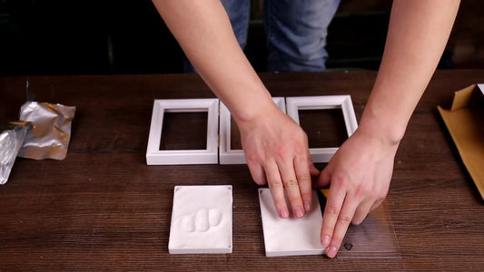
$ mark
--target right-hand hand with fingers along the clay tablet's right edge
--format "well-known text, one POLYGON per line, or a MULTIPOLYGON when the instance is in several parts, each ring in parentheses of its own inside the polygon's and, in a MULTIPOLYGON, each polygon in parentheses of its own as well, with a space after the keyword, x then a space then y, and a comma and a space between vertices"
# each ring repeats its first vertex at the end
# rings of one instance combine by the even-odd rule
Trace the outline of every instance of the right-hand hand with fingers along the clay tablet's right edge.
POLYGON ((357 130, 321 171, 316 187, 331 184, 324 209, 321 243, 335 257, 350 223, 359 225, 385 199, 398 144, 357 130))

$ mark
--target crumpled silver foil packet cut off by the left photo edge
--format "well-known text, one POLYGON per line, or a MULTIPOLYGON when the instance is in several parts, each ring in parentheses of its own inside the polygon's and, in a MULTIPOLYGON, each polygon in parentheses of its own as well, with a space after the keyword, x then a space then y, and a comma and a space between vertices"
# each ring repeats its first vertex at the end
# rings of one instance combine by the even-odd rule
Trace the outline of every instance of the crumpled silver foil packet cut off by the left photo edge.
POLYGON ((5 184, 10 176, 29 125, 28 121, 0 122, 0 184, 5 184))

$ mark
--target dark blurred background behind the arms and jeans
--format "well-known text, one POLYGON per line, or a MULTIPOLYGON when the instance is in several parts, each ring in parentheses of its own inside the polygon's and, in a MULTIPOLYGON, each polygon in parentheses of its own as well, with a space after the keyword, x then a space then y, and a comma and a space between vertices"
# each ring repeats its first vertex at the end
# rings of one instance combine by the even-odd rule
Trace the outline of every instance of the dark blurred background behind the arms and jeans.
MULTIPOLYGON (((252 0, 245 49, 265 69, 262 0, 252 0)), ((341 0, 328 69, 376 70, 391 1, 341 0)), ((484 1, 462 0, 441 69, 484 68, 484 1)), ((183 52, 150 0, 0 0, 0 76, 182 73, 183 52)))

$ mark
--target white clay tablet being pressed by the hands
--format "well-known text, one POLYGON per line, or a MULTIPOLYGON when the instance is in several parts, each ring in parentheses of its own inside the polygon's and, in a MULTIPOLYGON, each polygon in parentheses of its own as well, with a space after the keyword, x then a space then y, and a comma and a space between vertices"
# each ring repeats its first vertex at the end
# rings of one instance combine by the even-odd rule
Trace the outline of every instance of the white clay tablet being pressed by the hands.
MULTIPOLYGON (((279 218, 272 201, 271 190, 259 189, 265 256, 321 255, 322 215, 316 191, 312 194, 312 209, 303 218, 279 218)), ((287 199, 286 199, 287 201, 287 199)), ((288 207, 289 204, 288 204, 288 207)), ((290 209, 291 210, 291 209, 290 209)))

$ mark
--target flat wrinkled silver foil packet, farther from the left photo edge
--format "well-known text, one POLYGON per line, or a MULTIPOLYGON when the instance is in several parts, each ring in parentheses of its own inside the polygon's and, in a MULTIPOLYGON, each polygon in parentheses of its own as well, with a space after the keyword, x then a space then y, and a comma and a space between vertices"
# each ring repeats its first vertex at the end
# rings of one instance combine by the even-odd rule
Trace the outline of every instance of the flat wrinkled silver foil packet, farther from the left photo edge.
POLYGON ((64 160, 71 139, 75 107, 61 104, 25 102, 20 120, 32 122, 18 157, 64 160))

